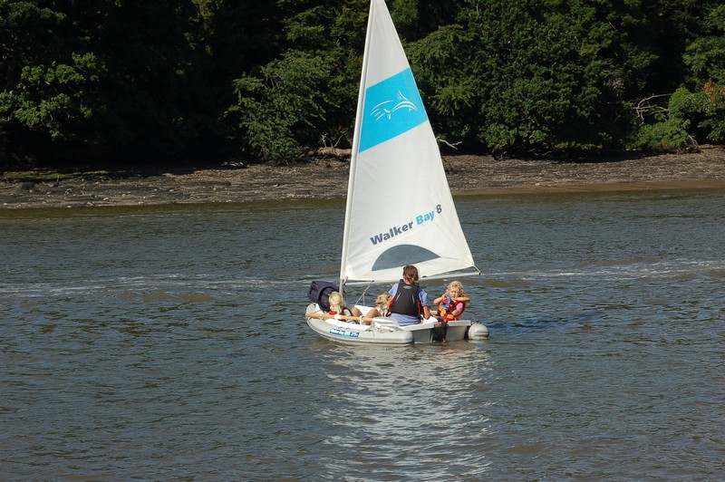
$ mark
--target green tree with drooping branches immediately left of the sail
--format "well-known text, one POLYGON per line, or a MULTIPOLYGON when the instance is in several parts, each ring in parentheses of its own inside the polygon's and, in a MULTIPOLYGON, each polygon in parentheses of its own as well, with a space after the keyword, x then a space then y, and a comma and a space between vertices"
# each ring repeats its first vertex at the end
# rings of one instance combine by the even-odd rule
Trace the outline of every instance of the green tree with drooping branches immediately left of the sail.
POLYGON ((360 78, 367 1, 280 1, 288 48, 235 81, 226 118, 255 159, 303 157, 349 143, 360 78))

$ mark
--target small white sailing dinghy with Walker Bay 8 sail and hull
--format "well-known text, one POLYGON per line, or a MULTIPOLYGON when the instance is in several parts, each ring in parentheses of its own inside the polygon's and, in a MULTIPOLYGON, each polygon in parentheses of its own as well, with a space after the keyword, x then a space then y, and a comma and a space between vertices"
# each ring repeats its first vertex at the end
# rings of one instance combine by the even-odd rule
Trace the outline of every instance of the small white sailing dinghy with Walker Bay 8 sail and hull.
MULTIPOLYGON (((387 291, 400 280, 405 265, 415 265, 423 281, 480 274, 460 227, 438 143, 391 15, 384 0, 372 0, 353 132, 339 289, 335 291, 372 284, 382 284, 380 291, 387 291)), ((334 287, 327 286, 328 294, 334 287)), ((322 298, 310 297, 313 303, 305 312, 307 324, 321 337, 336 342, 431 342, 440 327, 434 317, 407 326, 382 317, 362 324, 353 317, 330 315, 322 298)), ((357 307, 362 313, 370 309, 357 307)), ((488 330, 480 323, 448 323, 447 341, 483 336, 488 336, 488 330)))

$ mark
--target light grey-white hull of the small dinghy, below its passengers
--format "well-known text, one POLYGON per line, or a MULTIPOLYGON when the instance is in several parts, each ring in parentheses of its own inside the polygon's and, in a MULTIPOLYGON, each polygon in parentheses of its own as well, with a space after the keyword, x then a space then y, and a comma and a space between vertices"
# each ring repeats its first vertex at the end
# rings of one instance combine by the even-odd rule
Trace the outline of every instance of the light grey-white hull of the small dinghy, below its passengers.
MULTIPOLYGON (((362 313, 366 308, 359 306, 362 313)), ((305 313, 324 313, 317 304, 307 306, 305 313)), ((345 344, 408 345, 431 343, 438 323, 425 322, 400 326, 392 318, 374 318, 372 325, 348 323, 341 320, 306 317, 307 325, 325 340, 345 344)), ((446 342, 488 338, 488 329, 470 320, 448 323, 446 342)))

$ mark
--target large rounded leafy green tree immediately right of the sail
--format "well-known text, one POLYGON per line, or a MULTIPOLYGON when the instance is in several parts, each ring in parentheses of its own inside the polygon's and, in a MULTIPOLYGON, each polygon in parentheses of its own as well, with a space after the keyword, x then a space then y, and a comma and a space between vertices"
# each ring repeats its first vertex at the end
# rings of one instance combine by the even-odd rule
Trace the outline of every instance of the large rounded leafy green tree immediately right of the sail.
POLYGON ((495 150, 608 141, 604 68, 585 41, 593 16, 567 2, 469 2, 411 49, 440 131, 495 150))

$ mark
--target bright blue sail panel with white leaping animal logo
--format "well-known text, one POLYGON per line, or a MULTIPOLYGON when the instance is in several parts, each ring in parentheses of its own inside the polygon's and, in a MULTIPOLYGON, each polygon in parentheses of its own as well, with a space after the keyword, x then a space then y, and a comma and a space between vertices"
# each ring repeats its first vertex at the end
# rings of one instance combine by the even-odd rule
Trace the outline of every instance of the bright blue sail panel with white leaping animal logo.
POLYGON ((410 68, 368 87, 362 112, 359 152, 428 120, 410 68))

